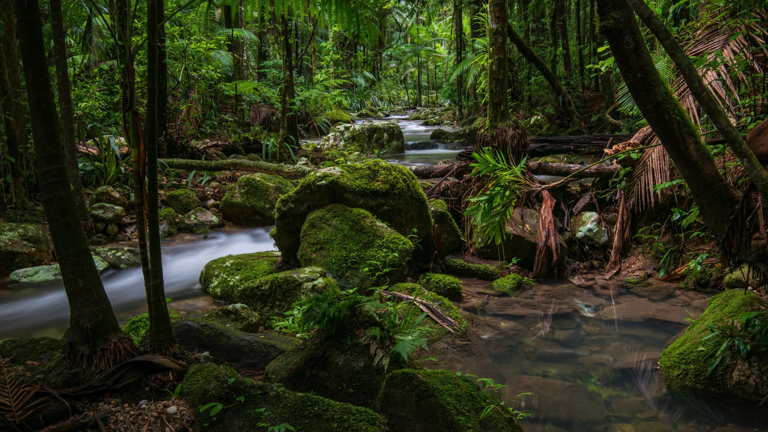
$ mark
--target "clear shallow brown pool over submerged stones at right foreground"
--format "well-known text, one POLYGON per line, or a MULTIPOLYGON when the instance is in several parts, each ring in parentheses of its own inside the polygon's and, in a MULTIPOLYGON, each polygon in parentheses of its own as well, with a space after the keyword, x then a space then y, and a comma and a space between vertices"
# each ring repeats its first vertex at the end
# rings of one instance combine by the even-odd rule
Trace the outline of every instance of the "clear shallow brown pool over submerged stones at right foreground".
MULTIPOLYGON (((660 283, 664 284, 664 283, 660 283)), ((427 367, 506 384, 508 406, 531 414, 526 432, 765 431, 752 406, 668 390, 657 358, 706 307, 704 295, 596 280, 592 287, 552 283, 515 297, 493 297, 465 279, 461 307, 474 316, 461 337, 430 347, 427 367), (646 297, 664 298, 664 301, 646 297), (532 395, 521 395, 533 393, 532 395)))

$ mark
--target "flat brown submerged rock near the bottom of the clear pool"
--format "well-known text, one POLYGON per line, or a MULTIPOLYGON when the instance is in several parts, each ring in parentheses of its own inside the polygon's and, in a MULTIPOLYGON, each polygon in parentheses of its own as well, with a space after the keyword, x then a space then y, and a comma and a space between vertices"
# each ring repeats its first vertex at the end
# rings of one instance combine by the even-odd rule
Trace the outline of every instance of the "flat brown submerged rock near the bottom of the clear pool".
POLYGON ((518 375, 507 381, 508 403, 515 395, 522 411, 538 420, 572 423, 598 423, 607 415, 605 404, 598 394, 587 387, 548 378, 518 375))

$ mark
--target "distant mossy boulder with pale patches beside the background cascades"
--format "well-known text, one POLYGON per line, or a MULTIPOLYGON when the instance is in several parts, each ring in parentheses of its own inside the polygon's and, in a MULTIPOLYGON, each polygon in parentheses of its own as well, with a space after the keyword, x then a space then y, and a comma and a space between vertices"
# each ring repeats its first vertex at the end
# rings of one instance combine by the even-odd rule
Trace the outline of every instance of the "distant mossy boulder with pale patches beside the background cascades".
POLYGON ((406 151, 406 138, 399 125, 389 121, 374 121, 359 125, 339 125, 320 140, 323 151, 333 149, 363 155, 396 154, 406 151))

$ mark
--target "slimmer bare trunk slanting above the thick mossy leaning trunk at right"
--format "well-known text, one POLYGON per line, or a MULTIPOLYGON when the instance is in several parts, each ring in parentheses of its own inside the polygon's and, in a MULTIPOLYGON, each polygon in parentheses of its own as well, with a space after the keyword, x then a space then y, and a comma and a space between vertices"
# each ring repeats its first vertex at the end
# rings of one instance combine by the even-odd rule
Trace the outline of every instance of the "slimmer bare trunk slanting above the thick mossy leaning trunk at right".
POLYGON ((760 161, 757 160, 755 154, 747 147, 746 142, 741 138, 739 131, 736 130, 733 123, 730 122, 730 119, 725 114, 725 111, 723 111, 723 108, 720 107, 712 92, 704 85, 694 62, 685 54, 683 48, 677 43, 677 40, 667 29, 667 26, 664 25, 664 22, 661 22, 656 12, 652 11, 644 1, 628 0, 628 2, 634 8, 634 11, 637 12, 637 16, 650 29, 650 32, 661 42, 667 54, 674 60, 675 65, 680 69, 680 73, 688 85, 691 95, 694 95, 701 108, 707 113, 707 117, 717 126, 717 131, 720 132, 720 135, 723 135, 733 154, 739 158, 746 173, 750 174, 750 178, 752 178, 752 182, 757 190, 760 191, 763 198, 768 198, 768 173, 766 173, 760 161))

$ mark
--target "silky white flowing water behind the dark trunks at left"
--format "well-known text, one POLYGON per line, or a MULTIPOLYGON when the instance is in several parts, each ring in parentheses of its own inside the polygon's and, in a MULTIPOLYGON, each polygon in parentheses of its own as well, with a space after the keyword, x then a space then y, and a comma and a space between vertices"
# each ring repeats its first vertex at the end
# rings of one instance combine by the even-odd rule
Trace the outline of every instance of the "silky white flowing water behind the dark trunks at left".
MULTIPOLYGON (((228 254, 274 250, 270 228, 215 231, 210 238, 180 234, 163 242, 165 294, 171 308, 199 315, 214 308, 197 279, 204 265, 228 254)), ((140 268, 108 270, 104 288, 119 319, 146 311, 140 268)), ((61 282, 10 284, 0 282, 0 340, 6 337, 59 337, 69 322, 69 306, 61 282)))

